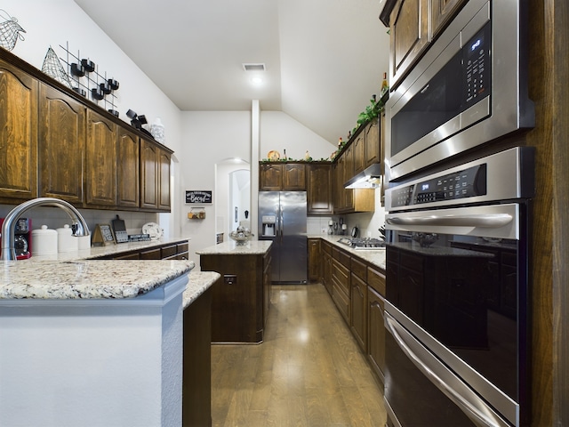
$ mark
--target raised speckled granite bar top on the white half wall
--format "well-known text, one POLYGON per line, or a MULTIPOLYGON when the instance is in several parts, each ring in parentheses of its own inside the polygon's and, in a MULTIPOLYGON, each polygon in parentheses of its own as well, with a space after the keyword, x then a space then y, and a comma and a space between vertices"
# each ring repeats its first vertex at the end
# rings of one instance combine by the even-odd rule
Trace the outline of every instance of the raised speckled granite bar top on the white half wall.
POLYGON ((0 263, 0 300, 132 298, 194 268, 177 260, 30 260, 0 263))

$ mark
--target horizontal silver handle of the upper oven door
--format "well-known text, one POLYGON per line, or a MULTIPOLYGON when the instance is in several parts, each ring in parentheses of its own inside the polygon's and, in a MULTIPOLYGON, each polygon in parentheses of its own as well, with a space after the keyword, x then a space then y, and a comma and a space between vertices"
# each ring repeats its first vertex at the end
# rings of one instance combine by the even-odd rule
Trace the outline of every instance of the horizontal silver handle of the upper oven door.
POLYGON ((448 227, 490 227, 500 228, 512 222, 510 214, 480 215, 429 215, 421 217, 392 216, 385 221, 392 225, 432 225, 448 227))

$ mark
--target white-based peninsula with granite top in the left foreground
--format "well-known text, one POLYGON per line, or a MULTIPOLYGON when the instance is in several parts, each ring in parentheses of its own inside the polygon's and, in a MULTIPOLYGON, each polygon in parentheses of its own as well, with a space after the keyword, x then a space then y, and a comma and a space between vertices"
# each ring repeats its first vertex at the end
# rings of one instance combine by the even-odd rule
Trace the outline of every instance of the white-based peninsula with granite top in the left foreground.
POLYGON ((182 325, 219 275, 38 258, 0 265, 0 425, 181 425, 182 325))

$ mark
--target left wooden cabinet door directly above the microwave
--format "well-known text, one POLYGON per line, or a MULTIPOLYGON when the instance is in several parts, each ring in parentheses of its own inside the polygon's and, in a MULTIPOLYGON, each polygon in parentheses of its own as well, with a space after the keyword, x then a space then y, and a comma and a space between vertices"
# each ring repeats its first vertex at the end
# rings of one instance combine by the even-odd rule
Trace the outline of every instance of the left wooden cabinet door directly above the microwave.
POLYGON ((389 22, 389 83, 395 88, 429 44, 429 0, 398 0, 389 22))

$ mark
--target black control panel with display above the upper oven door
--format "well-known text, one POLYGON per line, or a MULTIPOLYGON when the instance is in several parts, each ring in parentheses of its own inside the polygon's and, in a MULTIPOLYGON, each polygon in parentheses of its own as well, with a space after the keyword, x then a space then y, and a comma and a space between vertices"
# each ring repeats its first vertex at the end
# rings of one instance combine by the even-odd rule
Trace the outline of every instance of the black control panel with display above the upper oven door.
POLYGON ((455 173, 394 189, 392 206, 460 200, 486 194, 486 165, 476 165, 455 173))

